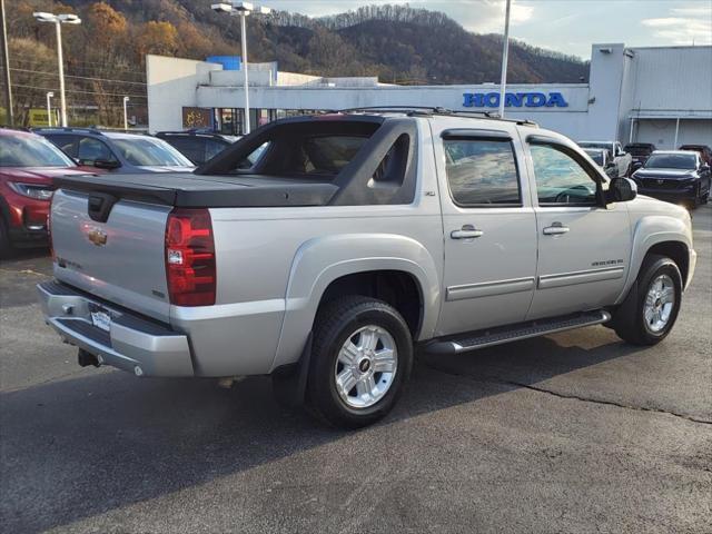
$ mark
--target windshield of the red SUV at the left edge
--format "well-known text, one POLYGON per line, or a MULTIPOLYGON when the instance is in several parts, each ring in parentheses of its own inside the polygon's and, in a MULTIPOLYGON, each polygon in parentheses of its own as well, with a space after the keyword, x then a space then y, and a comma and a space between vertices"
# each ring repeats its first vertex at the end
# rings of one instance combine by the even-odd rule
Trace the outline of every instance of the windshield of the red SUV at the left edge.
POLYGON ((75 162, 39 136, 0 136, 0 167, 75 167, 75 162))

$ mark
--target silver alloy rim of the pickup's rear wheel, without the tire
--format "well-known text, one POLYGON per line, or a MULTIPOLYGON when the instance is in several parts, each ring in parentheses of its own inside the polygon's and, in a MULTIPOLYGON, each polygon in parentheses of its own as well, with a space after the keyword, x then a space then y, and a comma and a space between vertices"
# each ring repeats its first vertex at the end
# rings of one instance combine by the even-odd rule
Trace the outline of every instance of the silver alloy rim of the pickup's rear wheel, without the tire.
POLYGON ((368 408, 388 393, 397 367, 393 336, 380 326, 364 326, 348 336, 336 358, 338 396, 352 408, 368 408))

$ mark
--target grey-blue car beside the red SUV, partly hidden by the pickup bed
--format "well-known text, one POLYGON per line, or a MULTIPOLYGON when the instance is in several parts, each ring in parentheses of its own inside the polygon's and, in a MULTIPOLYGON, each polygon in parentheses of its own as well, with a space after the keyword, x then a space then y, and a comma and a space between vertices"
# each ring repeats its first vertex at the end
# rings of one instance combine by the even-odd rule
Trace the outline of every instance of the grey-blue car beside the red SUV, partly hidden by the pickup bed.
POLYGON ((93 128, 34 130, 81 165, 111 174, 190 172, 195 165, 169 144, 142 134, 93 128))

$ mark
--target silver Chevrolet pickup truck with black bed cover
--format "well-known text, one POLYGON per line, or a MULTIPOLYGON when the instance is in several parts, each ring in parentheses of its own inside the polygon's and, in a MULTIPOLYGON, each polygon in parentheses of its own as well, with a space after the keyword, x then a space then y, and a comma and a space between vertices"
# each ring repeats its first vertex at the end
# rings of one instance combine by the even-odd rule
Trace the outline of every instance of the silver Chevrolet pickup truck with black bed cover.
POLYGON ((343 427, 388 413, 415 352, 599 324, 659 343, 696 258, 686 210, 567 138, 444 110, 275 121, 192 175, 61 178, 50 219, 39 294, 80 365, 269 374, 343 427))

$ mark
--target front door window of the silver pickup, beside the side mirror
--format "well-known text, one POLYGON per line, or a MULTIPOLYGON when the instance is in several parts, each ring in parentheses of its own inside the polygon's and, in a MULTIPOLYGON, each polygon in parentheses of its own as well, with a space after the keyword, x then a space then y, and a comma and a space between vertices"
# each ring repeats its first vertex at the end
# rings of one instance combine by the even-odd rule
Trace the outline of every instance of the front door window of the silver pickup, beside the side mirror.
POLYGON ((596 182, 571 156, 553 145, 530 145, 541 206, 594 206, 596 182))

